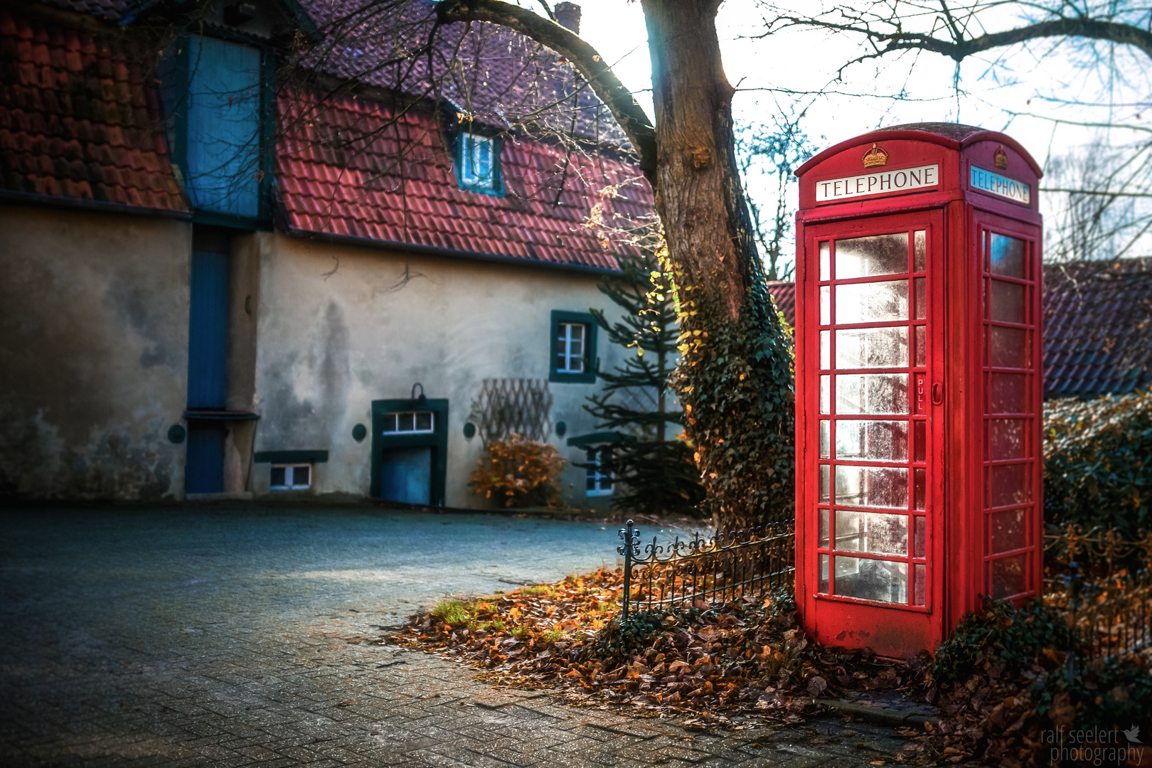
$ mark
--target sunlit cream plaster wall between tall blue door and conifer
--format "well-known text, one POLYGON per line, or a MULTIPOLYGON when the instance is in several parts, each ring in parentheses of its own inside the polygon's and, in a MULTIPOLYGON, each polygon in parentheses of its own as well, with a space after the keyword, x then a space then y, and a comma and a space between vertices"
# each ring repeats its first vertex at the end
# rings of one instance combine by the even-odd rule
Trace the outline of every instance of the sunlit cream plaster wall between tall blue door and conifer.
MULTIPOLYGON (((327 449, 318 493, 369 493, 372 440, 356 442, 353 427, 371 429, 371 402, 407 398, 419 381, 429 397, 449 401, 446 503, 486 505, 467 486, 480 439, 463 435, 483 380, 547 379, 552 310, 611 305, 594 275, 259 237, 256 450, 327 449)), ((601 366, 617 355, 600 332, 601 366)), ((582 406, 599 386, 550 385, 551 420, 568 425, 552 441, 571 461, 584 455, 564 440, 594 429, 582 406)), ((608 501, 585 502, 582 469, 567 484, 573 503, 608 501)), ((253 487, 267 493, 267 464, 256 466, 253 487)))

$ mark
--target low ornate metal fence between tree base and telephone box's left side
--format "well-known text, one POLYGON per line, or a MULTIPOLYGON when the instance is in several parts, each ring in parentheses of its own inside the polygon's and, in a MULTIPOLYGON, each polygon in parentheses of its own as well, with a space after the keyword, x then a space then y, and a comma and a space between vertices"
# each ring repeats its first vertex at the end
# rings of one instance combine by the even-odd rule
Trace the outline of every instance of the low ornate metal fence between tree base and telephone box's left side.
POLYGON ((661 545, 658 537, 641 543, 628 520, 620 529, 624 543, 622 618, 630 610, 728 602, 795 583, 796 527, 791 522, 712 537, 694 533, 661 545), (642 549, 643 547, 643 549, 642 549))

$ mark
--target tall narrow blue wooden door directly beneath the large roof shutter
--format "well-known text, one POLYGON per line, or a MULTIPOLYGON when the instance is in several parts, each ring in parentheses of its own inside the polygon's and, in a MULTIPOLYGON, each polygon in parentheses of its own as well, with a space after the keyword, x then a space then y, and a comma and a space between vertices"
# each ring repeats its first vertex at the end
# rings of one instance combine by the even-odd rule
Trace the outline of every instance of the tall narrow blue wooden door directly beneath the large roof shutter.
POLYGON ((188 408, 222 409, 227 398, 228 257, 192 252, 188 319, 188 408))

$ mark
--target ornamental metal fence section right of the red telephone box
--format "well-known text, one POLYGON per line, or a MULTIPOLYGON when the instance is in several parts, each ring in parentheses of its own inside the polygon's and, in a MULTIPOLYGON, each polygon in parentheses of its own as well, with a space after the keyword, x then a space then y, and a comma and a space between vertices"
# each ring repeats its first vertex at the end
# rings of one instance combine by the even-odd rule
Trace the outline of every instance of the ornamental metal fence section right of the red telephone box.
POLYGON ((1069 526, 1044 537, 1044 601, 1063 611, 1084 659, 1152 648, 1152 534, 1069 526))

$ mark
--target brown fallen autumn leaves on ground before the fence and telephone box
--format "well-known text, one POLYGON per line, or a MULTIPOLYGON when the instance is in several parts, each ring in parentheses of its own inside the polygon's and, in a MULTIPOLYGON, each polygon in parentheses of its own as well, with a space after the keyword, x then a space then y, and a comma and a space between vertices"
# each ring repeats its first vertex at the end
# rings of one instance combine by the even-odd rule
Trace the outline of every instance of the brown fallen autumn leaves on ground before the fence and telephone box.
MULTIPOLYGON (((569 705, 631 717, 677 717, 696 731, 797 725, 826 712, 827 699, 895 700, 923 686, 924 657, 882 659, 804 638, 787 592, 630 611, 621 622, 622 593, 622 569, 601 568, 555 584, 446 600, 410 616, 389 639, 468 664, 493 686, 548 690, 569 705)), ((942 753, 952 745, 931 727, 895 735, 909 744, 887 761, 960 762, 971 754, 942 753)))

